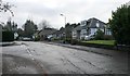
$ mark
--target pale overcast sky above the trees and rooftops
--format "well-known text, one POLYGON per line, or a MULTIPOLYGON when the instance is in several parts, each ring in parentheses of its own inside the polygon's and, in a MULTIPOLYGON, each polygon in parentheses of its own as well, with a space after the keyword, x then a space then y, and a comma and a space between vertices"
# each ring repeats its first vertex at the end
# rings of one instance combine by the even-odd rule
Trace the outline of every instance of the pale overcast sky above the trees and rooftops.
MULTIPOLYGON (((64 26, 64 17, 67 23, 79 23, 83 20, 96 17, 105 23, 121 4, 129 0, 3 0, 14 4, 13 12, 15 14, 12 20, 18 24, 18 27, 25 23, 27 18, 31 18, 36 24, 42 20, 50 23, 52 27, 60 28, 64 26)), ((0 15, 0 21, 6 22, 10 13, 0 15)))

